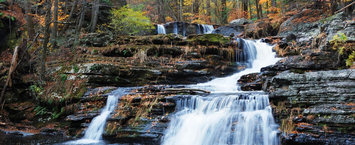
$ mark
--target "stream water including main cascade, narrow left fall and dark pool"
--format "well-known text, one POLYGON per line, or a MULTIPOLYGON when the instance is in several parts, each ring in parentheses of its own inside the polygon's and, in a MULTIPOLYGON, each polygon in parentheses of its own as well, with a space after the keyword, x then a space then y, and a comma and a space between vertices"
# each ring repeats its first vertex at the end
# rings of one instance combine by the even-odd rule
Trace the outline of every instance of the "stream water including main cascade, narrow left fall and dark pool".
MULTIPOLYGON (((277 145, 278 125, 275 124, 268 95, 263 91, 243 92, 237 86, 242 75, 260 72, 262 67, 275 64, 272 46, 253 40, 244 40, 240 54, 248 63, 247 68, 234 75, 216 78, 206 83, 188 85, 211 91, 177 100, 176 113, 165 130, 164 145, 277 145)), ((81 139, 58 135, 1 134, 0 144, 135 144, 119 140, 103 140, 106 120, 130 87, 119 88, 108 94, 106 106, 94 117, 81 139), (50 140, 48 139, 50 138, 50 140)), ((139 145, 139 144, 136 144, 139 145)))

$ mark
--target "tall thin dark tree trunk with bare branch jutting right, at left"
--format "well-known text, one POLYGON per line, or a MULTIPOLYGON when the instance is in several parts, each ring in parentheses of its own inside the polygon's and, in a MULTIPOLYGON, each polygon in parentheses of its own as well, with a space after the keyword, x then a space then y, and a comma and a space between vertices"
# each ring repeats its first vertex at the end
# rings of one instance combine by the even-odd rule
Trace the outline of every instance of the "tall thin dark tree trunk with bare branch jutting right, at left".
POLYGON ((42 57, 41 57, 41 63, 40 63, 40 71, 39 71, 39 83, 43 84, 45 83, 45 61, 47 58, 47 45, 48 45, 48 39, 49 39, 49 26, 50 26, 50 19, 51 19, 51 14, 50 14, 50 9, 51 9, 51 1, 47 0, 47 13, 45 14, 45 25, 44 25, 44 40, 43 40, 43 46, 42 46, 42 57))

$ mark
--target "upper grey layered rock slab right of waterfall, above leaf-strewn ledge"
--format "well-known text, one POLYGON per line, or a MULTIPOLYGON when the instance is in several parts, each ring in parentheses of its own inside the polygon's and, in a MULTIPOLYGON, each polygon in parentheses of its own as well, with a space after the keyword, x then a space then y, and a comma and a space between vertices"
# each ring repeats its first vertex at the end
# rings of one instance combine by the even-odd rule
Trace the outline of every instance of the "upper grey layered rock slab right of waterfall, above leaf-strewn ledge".
POLYGON ((355 102, 355 70, 280 73, 269 86, 270 99, 311 106, 355 102))

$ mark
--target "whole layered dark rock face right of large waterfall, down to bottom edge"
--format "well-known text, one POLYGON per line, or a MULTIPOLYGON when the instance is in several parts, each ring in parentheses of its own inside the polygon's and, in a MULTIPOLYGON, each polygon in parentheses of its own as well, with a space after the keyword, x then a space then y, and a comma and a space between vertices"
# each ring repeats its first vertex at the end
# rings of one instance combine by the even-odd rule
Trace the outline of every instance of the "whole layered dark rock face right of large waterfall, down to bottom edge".
POLYGON ((284 71, 268 81, 272 102, 301 112, 293 118, 298 133, 282 134, 283 144, 355 143, 355 70, 284 71))

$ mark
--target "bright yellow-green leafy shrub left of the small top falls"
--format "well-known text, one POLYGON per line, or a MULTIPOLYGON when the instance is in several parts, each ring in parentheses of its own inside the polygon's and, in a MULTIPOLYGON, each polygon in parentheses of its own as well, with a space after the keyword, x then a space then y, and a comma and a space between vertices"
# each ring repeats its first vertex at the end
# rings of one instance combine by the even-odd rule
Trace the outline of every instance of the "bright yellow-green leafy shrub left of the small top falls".
POLYGON ((150 19, 141 11, 134 11, 128 6, 111 10, 112 22, 110 27, 120 34, 144 35, 154 29, 150 19))

